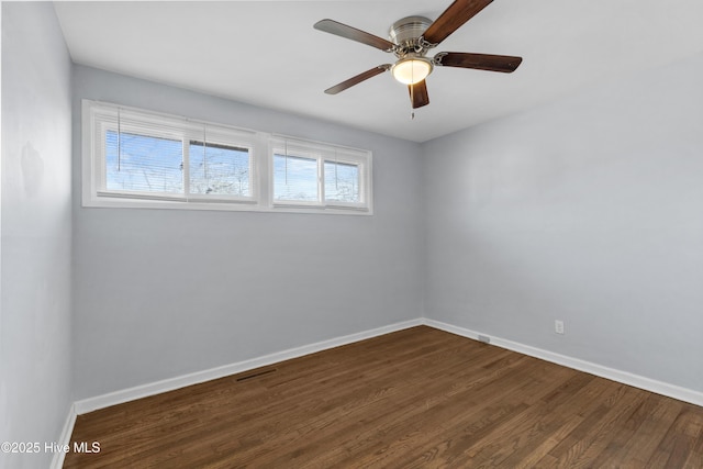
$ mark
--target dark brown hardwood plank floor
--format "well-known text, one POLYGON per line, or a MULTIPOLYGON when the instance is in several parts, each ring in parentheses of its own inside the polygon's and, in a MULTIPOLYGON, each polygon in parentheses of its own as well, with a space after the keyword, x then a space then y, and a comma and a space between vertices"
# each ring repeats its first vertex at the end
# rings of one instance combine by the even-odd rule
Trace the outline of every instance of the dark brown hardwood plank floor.
MULTIPOLYGON (((80 415, 66 468, 703 468, 703 407, 420 326, 80 415)), ((72 445, 72 443, 71 443, 72 445)))

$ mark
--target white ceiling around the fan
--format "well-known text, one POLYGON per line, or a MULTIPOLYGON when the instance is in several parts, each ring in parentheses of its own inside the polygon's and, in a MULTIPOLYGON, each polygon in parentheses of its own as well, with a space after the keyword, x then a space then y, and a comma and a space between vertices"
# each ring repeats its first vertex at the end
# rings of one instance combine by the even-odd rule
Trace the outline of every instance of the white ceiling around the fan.
POLYGON ((381 37, 450 0, 56 2, 74 62, 259 107, 424 142, 598 81, 703 52, 701 0, 495 0, 436 49, 517 55, 513 74, 436 68, 411 120, 390 74, 324 89, 393 62, 316 31, 324 18, 381 37))

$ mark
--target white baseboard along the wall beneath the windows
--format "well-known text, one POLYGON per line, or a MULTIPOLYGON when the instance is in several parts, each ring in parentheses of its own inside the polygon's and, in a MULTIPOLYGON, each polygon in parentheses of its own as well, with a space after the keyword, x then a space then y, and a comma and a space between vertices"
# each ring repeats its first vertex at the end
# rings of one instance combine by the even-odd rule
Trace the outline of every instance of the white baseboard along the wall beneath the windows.
MULTIPOLYGON (((78 415, 97 411, 99 409, 109 407, 111 405, 122 404, 124 402, 134 401, 135 399, 146 398, 161 392, 174 391, 187 386, 199 384, 217 378, 224 378, 230 375, 241 373, 246 370, 265 367, 277 364, 279 361, 289 360, 291 358, 302 357, 304 355, 314 354, 316 351, 326 350, 328 348, 352 344, 379 335, 389 334, 404 328, 423 325, 423 319, 404 321, 401 323, 390 324, 388 326, 378 327, 370 331, 364 331, 356 334, 349 334, 328 340, 317 342, 302 347, 290 348, 288 350, 278 351, 263 357, 253 358, 250 360, 238 361, 235 364, 224 365, 222 367, 211 368, 209 370, 197 371, 180 377, 169 378, 121 391, 110 392, 108 394, 88 398, 76 401, 75 413, 78 415)), ((70 436, 70 434, 69 434, 70 436)))

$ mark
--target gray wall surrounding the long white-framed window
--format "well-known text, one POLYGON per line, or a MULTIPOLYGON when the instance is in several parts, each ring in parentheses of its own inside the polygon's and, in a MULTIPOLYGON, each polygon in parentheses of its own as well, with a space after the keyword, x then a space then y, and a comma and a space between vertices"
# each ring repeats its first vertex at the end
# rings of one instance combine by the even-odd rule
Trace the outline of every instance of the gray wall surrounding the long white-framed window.
POLYGON ((77 399, 421 317, 419 145, 74 68, 77 399), (372 216, 80 206, 80 100, 373 152, 372 216))

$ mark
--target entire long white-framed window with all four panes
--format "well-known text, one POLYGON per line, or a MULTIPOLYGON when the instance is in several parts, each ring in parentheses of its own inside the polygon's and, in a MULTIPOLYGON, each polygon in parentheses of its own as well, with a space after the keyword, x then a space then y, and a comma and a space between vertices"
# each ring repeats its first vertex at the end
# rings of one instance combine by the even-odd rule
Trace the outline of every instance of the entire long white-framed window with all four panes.
POLYGON ((83 205, 371 213, 371 154, 83 100, 83 205))

